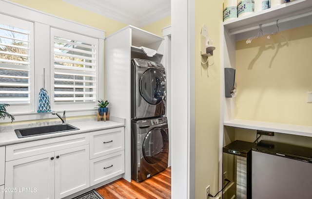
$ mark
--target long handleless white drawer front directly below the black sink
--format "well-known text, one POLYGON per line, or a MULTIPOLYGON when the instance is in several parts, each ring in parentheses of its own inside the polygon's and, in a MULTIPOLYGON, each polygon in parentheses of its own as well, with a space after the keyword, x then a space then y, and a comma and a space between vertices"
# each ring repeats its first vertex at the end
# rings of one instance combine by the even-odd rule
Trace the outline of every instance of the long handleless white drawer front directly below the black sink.
MULTIPOLYGON (((22 138, 21 138, 22 139, 22 138)), ((6 146, 6 161, 48 153, 65 148, 88 145, 88 133, 62 136, 33 142, 6 146)))

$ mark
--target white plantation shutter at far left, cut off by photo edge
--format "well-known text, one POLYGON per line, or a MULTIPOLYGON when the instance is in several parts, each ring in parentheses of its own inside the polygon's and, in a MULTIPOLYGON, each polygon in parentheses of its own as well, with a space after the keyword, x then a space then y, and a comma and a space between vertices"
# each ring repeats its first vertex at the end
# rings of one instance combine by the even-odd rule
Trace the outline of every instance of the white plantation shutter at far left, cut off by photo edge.
POLYGON ((32 22, 0 15, 0 103, 23 105, 19 112, 34 104, 33 27, 32 22))

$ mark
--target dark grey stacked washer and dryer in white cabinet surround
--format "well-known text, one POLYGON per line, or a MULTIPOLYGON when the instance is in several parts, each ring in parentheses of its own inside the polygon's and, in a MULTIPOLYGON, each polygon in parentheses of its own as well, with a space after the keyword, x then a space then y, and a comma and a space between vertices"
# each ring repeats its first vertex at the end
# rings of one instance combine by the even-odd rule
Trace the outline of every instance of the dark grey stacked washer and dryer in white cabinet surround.
POLYGON ((166 72, 161 63, 131 59, 132 179, 143 181, 168 167, 166 72))

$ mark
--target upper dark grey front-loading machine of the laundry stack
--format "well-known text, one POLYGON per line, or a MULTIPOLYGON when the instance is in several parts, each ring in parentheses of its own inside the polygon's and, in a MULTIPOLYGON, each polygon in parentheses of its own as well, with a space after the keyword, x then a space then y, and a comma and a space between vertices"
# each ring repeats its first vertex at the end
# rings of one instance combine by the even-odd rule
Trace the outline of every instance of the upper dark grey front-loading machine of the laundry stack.
POLYGON ((161 63, 131 59, 131 118, 165 115, 166 72, 161 63))

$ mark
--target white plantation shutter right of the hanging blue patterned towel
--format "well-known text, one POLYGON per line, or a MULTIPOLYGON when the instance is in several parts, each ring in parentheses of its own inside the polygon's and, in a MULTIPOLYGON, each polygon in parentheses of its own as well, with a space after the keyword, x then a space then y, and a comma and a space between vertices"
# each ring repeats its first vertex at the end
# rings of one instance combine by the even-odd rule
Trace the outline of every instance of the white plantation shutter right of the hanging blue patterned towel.
POLYGON ((54 28, 51 33, 54 102, 90 104, 93 108, 97 99, 98 39, 54 28))

